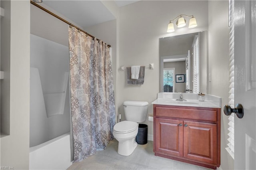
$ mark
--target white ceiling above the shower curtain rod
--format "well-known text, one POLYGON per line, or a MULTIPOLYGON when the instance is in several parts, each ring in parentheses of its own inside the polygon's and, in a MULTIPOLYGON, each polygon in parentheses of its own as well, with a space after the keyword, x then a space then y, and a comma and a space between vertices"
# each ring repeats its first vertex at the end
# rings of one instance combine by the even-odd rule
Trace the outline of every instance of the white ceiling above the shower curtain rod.
MULTIPOLYGON (((114 2, 118 7, 122 7, 138 0, 115 0, 114 2)), ((115 19, 100 0, 43 0, 43 4, 83 28, 115 19)))

